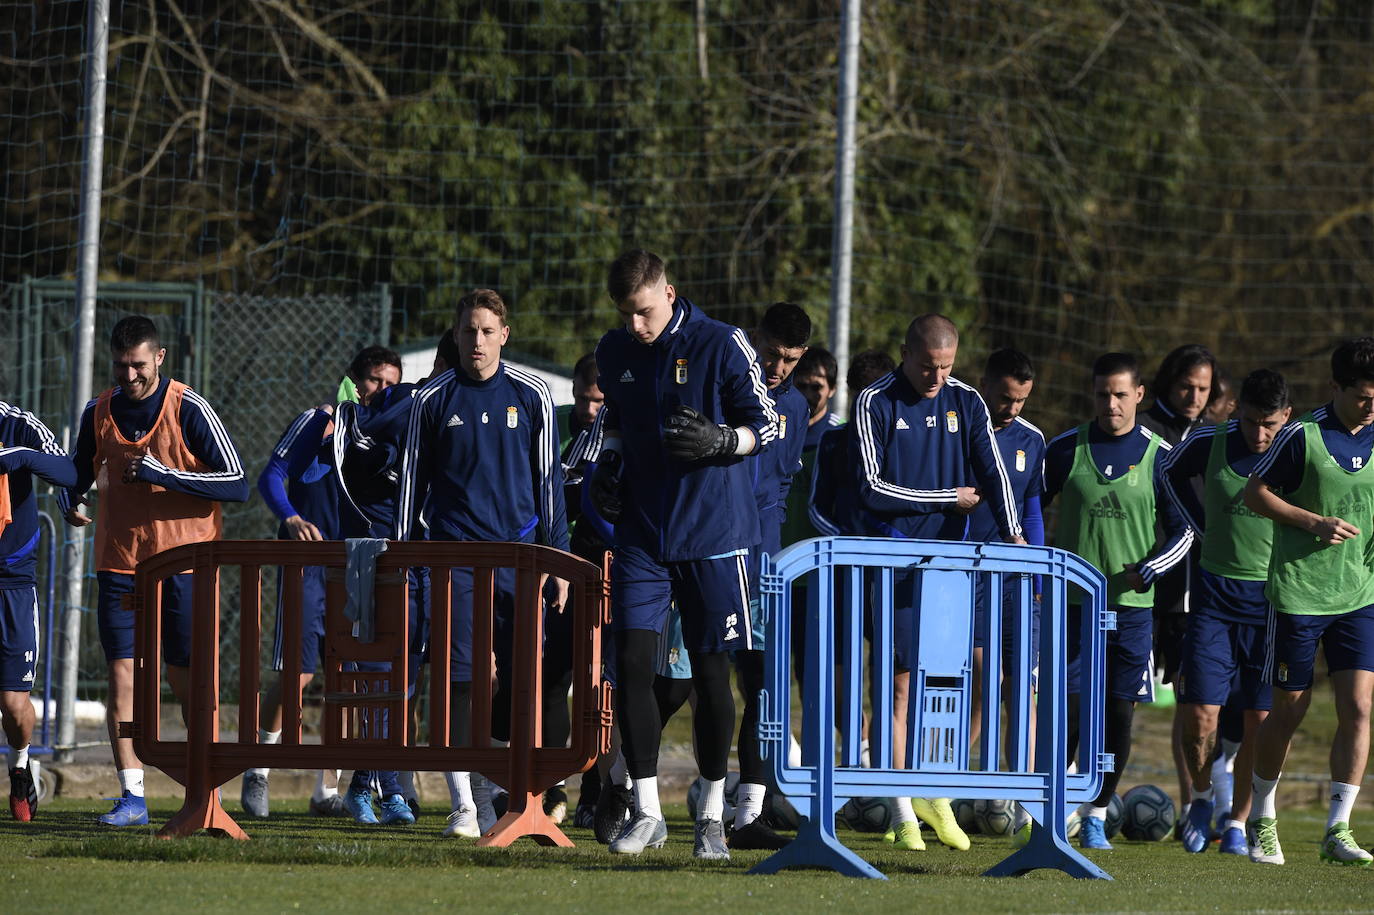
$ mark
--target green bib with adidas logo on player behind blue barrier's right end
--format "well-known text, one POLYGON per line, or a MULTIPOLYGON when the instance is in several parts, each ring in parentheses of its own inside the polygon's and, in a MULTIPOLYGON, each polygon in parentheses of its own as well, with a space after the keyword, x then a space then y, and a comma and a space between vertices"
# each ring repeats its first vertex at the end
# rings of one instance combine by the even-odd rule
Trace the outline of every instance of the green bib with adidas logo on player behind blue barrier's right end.
MULTIPOLYGON (((1079 426, 1073 466, 1059 496, 1059 529, 1055 541, 1107 577, 1107 606, 1154 606, 1154 585, 1132 591, 1118 577, 1128 562, 1142 562, 1154 547, 1154 456, 1160 437, 1150 433, 1150 445, 1140 463, 1116 479, 1107 479, 1088 451, 1088 423, 1079 426)), ((1128 434, 1136 434, 1132 429, 1128 434)), ((1080 603, 1073 600, 1070 602, 1080 603)))

